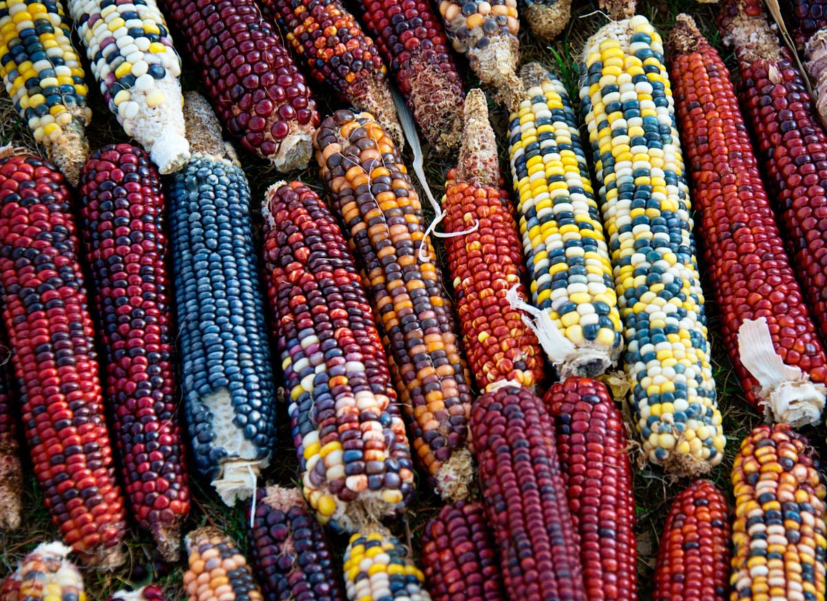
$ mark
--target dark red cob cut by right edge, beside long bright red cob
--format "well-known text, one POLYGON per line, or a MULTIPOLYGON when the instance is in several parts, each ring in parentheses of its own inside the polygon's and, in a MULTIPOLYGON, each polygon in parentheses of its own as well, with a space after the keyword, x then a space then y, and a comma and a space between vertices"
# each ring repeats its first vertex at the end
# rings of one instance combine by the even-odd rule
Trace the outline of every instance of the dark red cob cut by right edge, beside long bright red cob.
POLYGON ((827 336, 827 134, 761 5, 732 0, 719 26, 739 60, 743 116, 758 144, 786 250, 811 315, 827 336))

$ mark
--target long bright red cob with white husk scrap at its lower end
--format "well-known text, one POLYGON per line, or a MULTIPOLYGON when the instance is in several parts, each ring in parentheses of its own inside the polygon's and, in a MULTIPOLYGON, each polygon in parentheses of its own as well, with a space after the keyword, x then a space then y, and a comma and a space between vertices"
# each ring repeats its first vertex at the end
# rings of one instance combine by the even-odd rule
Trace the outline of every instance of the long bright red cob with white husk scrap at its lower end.
POLYGON ((671 45, 676 112, 729 359, 750 403, 796 427, 815 422, 825 405, 827 357, 784 252, 729 71, 691 17, 678 15, 671 45), (742 353, 754 365, 757 347, 740 345, 739 330, 758 319, 772 342, 767 351, 799 368, 797 377, 792 370, 765 385, 744 365, 742 353))

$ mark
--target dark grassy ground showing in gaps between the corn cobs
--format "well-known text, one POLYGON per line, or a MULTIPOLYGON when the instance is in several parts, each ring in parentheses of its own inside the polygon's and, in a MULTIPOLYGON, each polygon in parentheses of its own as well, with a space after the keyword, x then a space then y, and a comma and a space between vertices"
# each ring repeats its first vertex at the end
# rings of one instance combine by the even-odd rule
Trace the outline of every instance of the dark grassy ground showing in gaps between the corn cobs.
MULTIPOLYGON (((538 44, 528 35, 527 28, 521 33, 521 45, 523 61, 538 60, 548 68, 553 69, 560 76, 562 81, 569 88, 572 98, 577 98, 577 79, 579 60, 582 47, 586 39, 594 33, 598 27, 605 24, 606 19, 600 12, 595 12, 596 2, 575 2, 579 5, 574 8, 571 21, 566 31, 551 46, 538 44)), ((710 42, 722 50, 724 59, 728 61, 730 69, 733 69, 732 55, 729 50, 720 48, 719 35, 715 27, 715 12, 717 8, 713 5, 696 4, 686 0, 641 0, 638 10, 662 31, 664 39, 669 28, 675 21, 676 13, 681 7, 688 7, 693 17, 698 21, 701 30, 708 37, 710 42)), ((470 73, 467 64, 460 60, 461 72, 470 73)), ((194 69, 187 65, 184 69, 184 88, 198 89, 200 81, 194 75, 194 69)), ((474 79, 466 80, 466 88, 478 85, 474 79)), ((321 88, 316 88, 316 98, 319 103, 320 112, 327 114, 331 108, 340 107, 329 93, 321 88)), ((122 132, 117 121, 108 112, 97 90, 91 95, 94 117, 93 125, 88 129, 88 135, 92 147, 100 145, 127 141, 127 136, 122 132)), ((574 103, 577 106, 577 103, 574 103)), ((500 107, 490 106, 491 121, 495 126, 500 141, 500 157, 504 167, 507 166, 507 150, 505 148, 507 136, 508 116, 500 107)), ((12 112, 11 103, 7 98, 0 100, 0 141, 12 141, 16 145, 25 145, 32 150, 36 149, 31 135, 22 125, 22 122, 12 112)), ((440 157, 426 153, 426 172, 428 182, 435 195, 442 193, 442 186, 447 170, 452 167, 451 163, 440 157)), ((263 193, 270 184, 278 179, 302 179, 306 184, 322 191, 323 187, 318 178, 315 165, 308 166, 300 172, 291 174, 279 174, 264 161, 257 160, 251 155, 240 152, 246 174, 250 179, 253 198, 263 198, 263 193)), ((406 160, 410 156, 406 153, 406 160)), ((504 170, 505 177, 509 177, 508 169, 504 170)), ((418 183, 416 183, 418 185, 418 183)), ((433 217, 428 203, 425 202, 424 209, 428 218, 433 217)), ((257 210, 257 207, 256 207, 257 210)), ((437 241, 437 252, 444 261, 442 245, 437 241)), ((701 265, 702 273, 705 271, 701 265)), ((711 298, 708 282, 705 282, 707 296, 707 311, 709 316, 710 338, 713 348, 713 361, 715 364, 715 378, 718 384, 719 405, 724 413, 724 432, 728 436, 728 446, 725 459, 722 465, 716 468, 710 479, 713 479, 719 488, 729 494, 729 469, 732 465, 734 454, 738 449, 743 436, 751 427, 760 422, 758 414, 750 408, 743 400, 739 388, 738 379, 735 377, 732 366, 724 351, 723 342, 719 336, 719 314, 711 298)), ((290 444, 288 417, 284 405, 279 409, 280 445, 275 453, 273 465, 265 473, 265 480, 276 484, 291 484, 296 482, 294 450, 290 444)), ((818 440, 823 440, 823 432, 819 432, 818 440)), ((636 459, 638 451, 634 441, 630 442, 633 458, 636 459)), ((38 491, 31 475, 31 466, 26 465, 26 489, 23 491, 26 517, 23 527, 12 533, 0 534, 0 576, 7 570, 11 570, 27 551, 36 546, 39 542, 57 537, 57 530, 51 524, 49 514, 42 504, 41 494, 38 491)), ((686 480, 673 481, 662 471, 653 468, 651 465, 638 466, 634 471, 634 493, 637 502, 638 517, 638 572, 640 580, 641 598, 648 599, 650 592, 650 580, 653 573, 656 555, 657 541, 660 531, 666 518, 670 500, 686 486, 686 480)), ((220 503, 218 497, 213 493, 208 482, 194 475, 192 480, 193 510, 186 524, 185 529, 189 531, 194 527, 203 524, 212 524, 221 528, 233 537, 242 548, 246 549, 245 541, 245 516, 242 508, 227 508, 220 503)), ((418 489, 418 496, 414 506, 409 509, 407 518, 394 526, 395 532, 404 540, 412 541, 414 554, 417 553, 417 541, 421 530, 428 518, 441 507, 440 500, 427 487, 418 489)), ((332 535, 332 545, 339 551, 344 549, 346 538, 332 535)), ((113 590, 125 584, 145 584, 149 580, 160 580, 169 594, 170 601, 184 599, 181 590, 181 577, 185 567, 185 560, 178 565, 164 568, 156 560, 154 545, 151 537, 145 531, 137 527, 131 527, 127 537, 129 548, 129 559, 127 565, 114 572, 102 572, 95 570, 84 570, 85 580, 88 587, 88 599, 106 599, 113 590), (160 568, 161 569, 159 571, 160 568)))

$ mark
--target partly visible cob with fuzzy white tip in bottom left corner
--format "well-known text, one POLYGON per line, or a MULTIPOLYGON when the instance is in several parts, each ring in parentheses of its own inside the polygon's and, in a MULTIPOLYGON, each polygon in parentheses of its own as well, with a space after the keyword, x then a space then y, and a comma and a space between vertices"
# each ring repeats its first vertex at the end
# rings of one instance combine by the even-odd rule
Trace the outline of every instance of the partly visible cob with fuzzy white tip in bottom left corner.
POLYGON ((68 546, 42 542, 8 575, 0 587, 2 601, 86 601, 84 579, 66 559, 68 546))

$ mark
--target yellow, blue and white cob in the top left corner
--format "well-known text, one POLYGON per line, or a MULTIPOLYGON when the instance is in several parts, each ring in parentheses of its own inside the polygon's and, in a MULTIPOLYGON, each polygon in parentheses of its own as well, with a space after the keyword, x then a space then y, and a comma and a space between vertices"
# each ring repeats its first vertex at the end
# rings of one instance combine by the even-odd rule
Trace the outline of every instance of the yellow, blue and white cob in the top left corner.
POLYGON ((84 68, 60 0, 0 0, 0 75, 15 111, 72 185, 89 154, 84 68))

